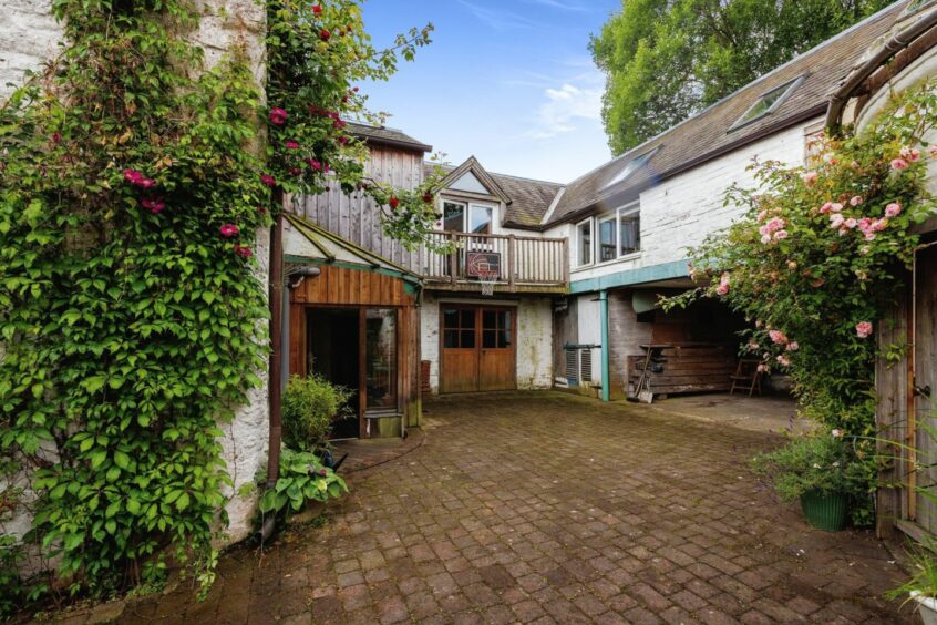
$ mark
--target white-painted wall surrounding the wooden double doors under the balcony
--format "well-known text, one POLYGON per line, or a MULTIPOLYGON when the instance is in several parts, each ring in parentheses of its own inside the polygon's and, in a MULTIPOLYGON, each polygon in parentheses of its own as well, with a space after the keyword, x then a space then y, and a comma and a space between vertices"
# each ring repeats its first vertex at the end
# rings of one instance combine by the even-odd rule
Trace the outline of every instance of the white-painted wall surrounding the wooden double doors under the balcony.
POLYGON ((519 300, 454 299, 426 293, 420 309, 421 360, 430 361, 430 388, 440 391, 440 303, 503 305, 517 307, 517 388, 548 389, 553 386, 553 301, 548 297, 519 300))

